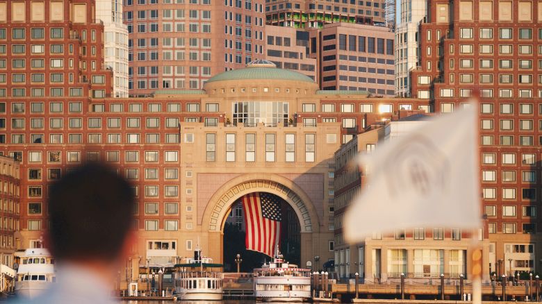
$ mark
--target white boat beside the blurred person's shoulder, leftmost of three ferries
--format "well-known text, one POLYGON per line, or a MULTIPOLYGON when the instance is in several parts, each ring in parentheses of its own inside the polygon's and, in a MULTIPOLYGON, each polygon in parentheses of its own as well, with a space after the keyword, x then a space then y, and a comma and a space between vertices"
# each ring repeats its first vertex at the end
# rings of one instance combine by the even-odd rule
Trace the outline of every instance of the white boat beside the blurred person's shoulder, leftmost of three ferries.
POLYGON ((30 248, 24 251, 17 269, 15 294, 24 298, 35 298, 56 282, 54 257, 45 248, 30 248))

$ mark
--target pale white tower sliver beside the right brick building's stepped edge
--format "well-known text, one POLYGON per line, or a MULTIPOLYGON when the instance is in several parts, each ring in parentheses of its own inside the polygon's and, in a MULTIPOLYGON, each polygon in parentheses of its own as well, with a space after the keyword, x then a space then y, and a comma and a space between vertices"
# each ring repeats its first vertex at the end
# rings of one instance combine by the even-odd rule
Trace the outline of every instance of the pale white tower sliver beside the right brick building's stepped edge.
POLYGON ((418 29, 427 17, 427 0, 401 0, 395 28, 395 94, 409 97, 410 71, 418 66, 418 29))

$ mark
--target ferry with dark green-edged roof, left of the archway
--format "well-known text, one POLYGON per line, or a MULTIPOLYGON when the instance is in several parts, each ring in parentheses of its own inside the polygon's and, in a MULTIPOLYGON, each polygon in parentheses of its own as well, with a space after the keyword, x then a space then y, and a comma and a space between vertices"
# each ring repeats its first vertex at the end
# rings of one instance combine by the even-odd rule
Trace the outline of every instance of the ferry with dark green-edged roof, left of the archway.
POLYGON ((182 264, 176 264, 174 272, 174 298, 179 301, 205 300, 220 301, 224 293, 224 273, 222 264, 213 264, 210 257, 202 257, 197 248, 194 258, 186 258, 182 264), (213 271, 217 269, 218 271, 213 271))

